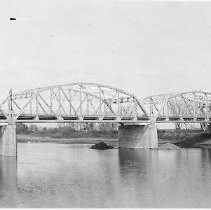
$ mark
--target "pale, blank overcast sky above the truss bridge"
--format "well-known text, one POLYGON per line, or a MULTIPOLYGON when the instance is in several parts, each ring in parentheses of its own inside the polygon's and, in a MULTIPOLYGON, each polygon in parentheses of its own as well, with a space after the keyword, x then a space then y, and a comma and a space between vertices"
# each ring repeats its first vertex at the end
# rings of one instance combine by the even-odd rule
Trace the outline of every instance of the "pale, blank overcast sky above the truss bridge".
POLYGON ((0 0, 0 99, 73 82, 211 91, 211 2, 0 0))

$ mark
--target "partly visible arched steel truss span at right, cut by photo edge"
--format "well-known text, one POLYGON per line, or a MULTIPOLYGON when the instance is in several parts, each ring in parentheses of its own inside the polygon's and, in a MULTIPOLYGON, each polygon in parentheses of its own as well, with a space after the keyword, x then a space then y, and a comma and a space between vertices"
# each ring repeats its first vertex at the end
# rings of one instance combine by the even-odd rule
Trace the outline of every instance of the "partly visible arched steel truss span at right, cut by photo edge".
POLYGON ((203 91, 149 96, 140 100, 156 122, 210 122, 211 93, 203 91))

